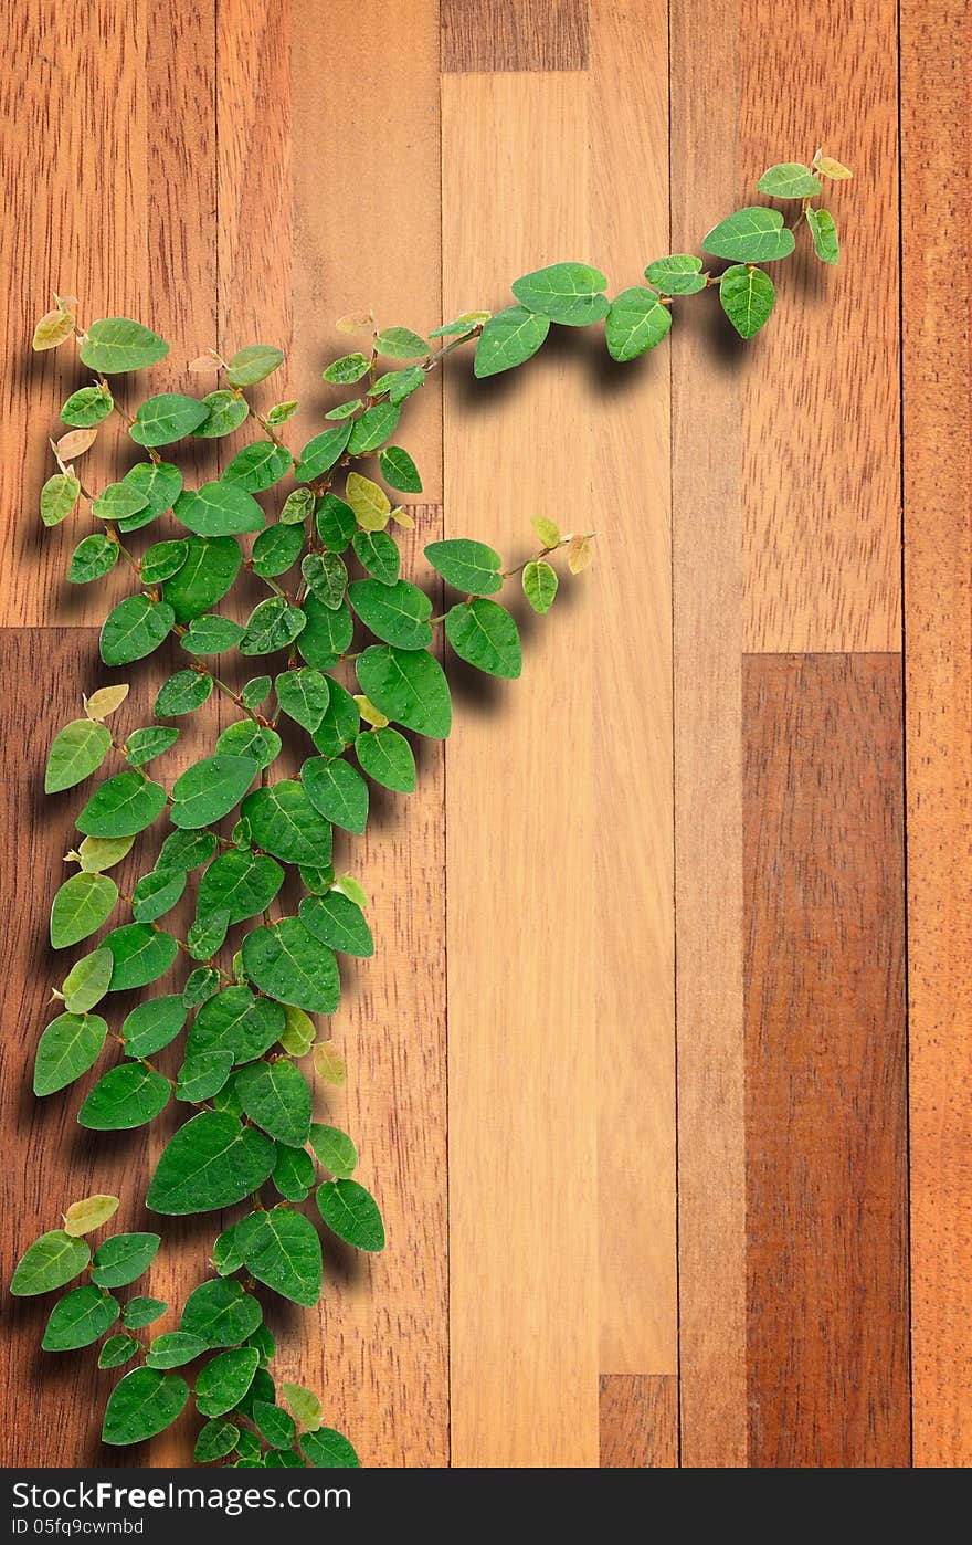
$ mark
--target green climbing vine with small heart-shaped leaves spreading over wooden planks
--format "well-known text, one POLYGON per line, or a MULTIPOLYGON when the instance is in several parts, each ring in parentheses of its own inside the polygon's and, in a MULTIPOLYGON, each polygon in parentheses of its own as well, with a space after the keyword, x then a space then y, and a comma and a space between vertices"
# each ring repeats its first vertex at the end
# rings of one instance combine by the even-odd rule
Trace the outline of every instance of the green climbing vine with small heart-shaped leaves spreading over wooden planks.
POLYGON ((161 337, 125 317, 82 326, 77 301, 63 297, 39 321, 34 348, 76 340, 88 377, 60 411, 66 433, 51 442, 57 471, 40 494, 42 521, 93 525, 71 553, 71 584, 97 582, 119 562, 131 570, 131 595, 100 630, 107 666, 128 667, 173 637, 185 661, 159 689, 151 714, 147 705, 131 714, 128 683, 100 688, 51 746, 51 794, 91 779, 110 759, 116 769, 77 814, 79 840, 66 854, 73 873, 53 901, 56 950, 99 939, 54 990, 60 1012, 37 1046, 34 1092, 68 1088, 108 1044, 117 1046, 121 1060, 80 1103, 79 1123, 138 1128, 175 1102, 187 1119, 148 1180, 148 1210, 241 1208, 215 1239, 212 1273, 182 1306, 178 1329, 153 1338, 144 1332, 168 1306, 144 1295, 122 1302, 117 1293, 148 1270, 159 1234, 110 1234, 94 1253, 88 1244, 117 1197, 74 1202, 62 1227, 23 1255, 11 1284, 17 1295, 83 1278, 54 1304, 45 1350, 100 1341, 99 1367, 134 1364, 108 1397, 105 1443, 138 1443, 175 1421, 190 1398, 187 1377, 175 1369, 193 1364, 192 1395, 204 1418, 199 1463, 359 1463, 351 1441, 323 1426, 317 1395, 287 1383, 278 1389, 258 1296, 269 1289, 317 1304, 317 1222, 325 1241, 335 1236, 365 1251, 385 1245, 379 1204, 354 1177, 355 1143, 314 1120, 304 1072, 311 1061, 325 1083, 343 1082, 340 1051, 315 1017, 337 1012, 338 956, 374 950, 368 896, 357 878, 335 871, 332 830, 365 831, 371 785, 414 789, 410 735, 448 735, 450 686, 436 630, 476 669, 518 677, 519 633, 496 596, 518 582, 535 612, 549 612, 559 584, 552 558, 566 555, 570 573, 579 573, 593 539, 593 531, 561 533, 535 516, 538 547, 515 565, 468 536, 430 542, 427 578, 451 592, 433 616, 427 589, 402 576, 394 538, 414 516, 393 501, 422 491, 414 460, 397 443, 408 399, 467 345, 478 377, 524 365, 552 324, 603 326, 610 357, 632 360, 664 338, 675 301, 703 290, 717 290, 729 323, 751 338, 774 306, 766 264, 790 256, 796 227, 807 229, 821 261, 838 261, 834 219, 817 199, 822 179, 845 178, 850 171, 822 153, 811 165, 770 167, 759 190, 796 205, 796 219, 763 204, 736 210, 702 243, 728 264, 720 272, 672 253, 649 263, 644 284, 609 300, 596 269, 558 263, 516 280, 515 304, 494 315, 467 312, 428 337, 379 326, 371 314, 345 317, 338 328, 360 334, 362 343, 332 360, 323 379, 348 388, 348 397, 300 448, 284 433, 297 403, 261 411, 255 394, 284 363, 278 348, 246 345, 229 357, 213 348, 190 365, 215 379, 212 391, 133 402, 127 391, 122 399, 117 379, 161 365, 168 354, 161 337), (257 436, 226 459, 216 479, 185 485, 172 447, 223 442, 252 425, 257 436), (90 488, 77 462, 110 426, 145 454, 116 482, 90 488), (270 494, 272 514, 261 494, 270 494), (136 533, 147 533, 138 550, 136 533), (238 621, 218 607, 244 572, 269 593, 238 621), (233 652, 258 672, 240 686, 226 680, 233 672, 223 660, 233 652), (178 743, 179 722, 213 694, 238 717, 212 754, 168 783, 158 760, 178 743), (110 728, 125 705, 128 723, 110 728), (294 737, 303 739, 294 776, 277 771, 284 735, 291 751, 294 737), (165 836, 155 862, 122 893, 111 871, 156 822, 165 836), (182 938, 162 919, 187 891, 195 905, 182 938), (131 921, 116 921, 119 907, 131 921), (105 1000, 151 987, 178 963, 185 972, 173 990, 147 997, 110 1027, 108 1010, 99 1012, 105 1000), (170 1077, 153 1058, 179 1037, 181 1063, 170 1077), (317 1221, 301 1211, 311 1196, 317 1221))

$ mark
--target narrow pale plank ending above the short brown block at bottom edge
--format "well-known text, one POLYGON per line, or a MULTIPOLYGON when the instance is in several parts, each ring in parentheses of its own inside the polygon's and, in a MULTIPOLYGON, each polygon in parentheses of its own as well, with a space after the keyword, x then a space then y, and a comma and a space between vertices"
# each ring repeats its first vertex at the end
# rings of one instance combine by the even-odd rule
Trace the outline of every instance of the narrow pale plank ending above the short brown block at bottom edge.
MULTIPOLYGON (((590 20, 579 256, 617 292, 668 252, 668 82, 654 68, 668 9, 626 0, 590 20), (620 190, 635 182, 632 204, 620 190)), ((669 366, 668 349, 632 365, 600 355, 590 409, 601 626, 626 641, 600 652, 596 689, 595 785, 610 811, 593 857, 601 1374, 674 1374, 678 1357, 669 366)))

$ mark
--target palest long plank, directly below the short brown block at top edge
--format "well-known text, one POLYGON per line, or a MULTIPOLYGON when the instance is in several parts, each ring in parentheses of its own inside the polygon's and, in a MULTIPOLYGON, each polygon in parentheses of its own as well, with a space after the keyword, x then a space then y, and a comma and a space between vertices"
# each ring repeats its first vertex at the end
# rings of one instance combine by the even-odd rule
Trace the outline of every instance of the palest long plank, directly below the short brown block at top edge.
MULTIPOLYGON (((447 76, 442 113, 445 311, 496 309, 516 273, 590 241, 587 82, 447 76)), ((533 547, 533 513, 590 528, 584 358, 584 343, 567 335, 507 379, 474 383, 468 358, 450 371, 448 535, 476 533, 511 564, 533 547)), ((590 854, 603 569, 558 598, 542 627, 528 623, 521 681, 457 694, 448 743, 451 1389, 462 1466, 598 1463, 590 854)))

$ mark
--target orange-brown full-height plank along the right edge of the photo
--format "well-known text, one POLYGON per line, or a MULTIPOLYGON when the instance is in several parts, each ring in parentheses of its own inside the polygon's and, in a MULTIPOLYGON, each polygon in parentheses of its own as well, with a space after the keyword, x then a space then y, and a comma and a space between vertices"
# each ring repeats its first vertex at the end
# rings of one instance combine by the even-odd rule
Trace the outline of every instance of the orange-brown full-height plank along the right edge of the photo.
POLYGON ((915 1465, 969 1468, 972 90, 964 5, 901 22, 915 1465))

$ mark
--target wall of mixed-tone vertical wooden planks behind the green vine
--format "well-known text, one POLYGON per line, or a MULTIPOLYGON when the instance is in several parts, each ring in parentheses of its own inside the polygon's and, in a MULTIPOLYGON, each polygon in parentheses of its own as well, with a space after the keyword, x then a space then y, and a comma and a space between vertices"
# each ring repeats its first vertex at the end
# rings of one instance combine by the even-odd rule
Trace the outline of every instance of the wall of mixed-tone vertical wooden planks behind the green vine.
MULTIPOLYGON (((156 324, 173 389, 210 343, 280 343, 300 443, 343 312, 428 329, 564 256, 623 287, 780 156, 824 144, 856 171, 842 266, 790 264, 756 343, 702 298, 638 365, 559 329, 515 377, 467 362, 410 405, 416 555, 476 535, 519 561, 536 513, 601 536, 542 626, 518 613, 524 678, 457 677, 454 739, 349 856, 379 952, 320 1109, 360 1139, 389 1248, 331 1262, 320 1315, 281 1321, 281 1372, 368 1465, 972 1458, 963 9, 906 0, 899 40, 892 0, 136 0, 124 25, 110 0, 5 0, 3 814, 39 876, 5 873, 6 1000, 28 1049, 74 808, 36 780, 100 607, 65 595, 32 516, 74 380, 25 352, 46 292, 156 324)), ((28 1063, 0 1088, 6 1258, 51 1199, 162 1142, 80 1142, 28 1063)), ((172 1233, 176 1302, 209 1231, 172 1233)), ((59 1401, 36 1307, 11 1329, 8 1462, 97 1460, 90 1360, 59 1401)), ((184 1452, 178 1431, 151 1462, 184 1452)))

